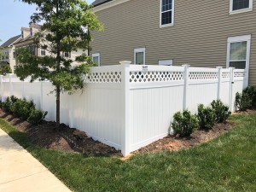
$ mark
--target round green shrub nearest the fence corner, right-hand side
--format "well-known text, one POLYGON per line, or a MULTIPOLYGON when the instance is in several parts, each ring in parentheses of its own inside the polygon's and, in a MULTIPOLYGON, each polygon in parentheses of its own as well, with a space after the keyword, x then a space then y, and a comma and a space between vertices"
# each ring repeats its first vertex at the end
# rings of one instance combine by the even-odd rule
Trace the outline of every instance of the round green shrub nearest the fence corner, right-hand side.
POLYGON ((175 134, 179 134, 181 137, 189 137, 198 128, 196 115, 188 110, 183 111, 183 113, 175 113, 173 118, 172 128, 175 134))

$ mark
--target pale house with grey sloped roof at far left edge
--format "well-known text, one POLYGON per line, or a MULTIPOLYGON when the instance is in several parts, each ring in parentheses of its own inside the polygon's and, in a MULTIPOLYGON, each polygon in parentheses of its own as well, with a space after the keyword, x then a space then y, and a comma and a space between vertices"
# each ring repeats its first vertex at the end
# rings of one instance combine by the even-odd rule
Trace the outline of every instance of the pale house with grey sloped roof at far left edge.
POLYGON ((15 36, 13 38, 9 38, 8 41, 3 43, 1 45, 2 49, 0 49, 0 64, 1 65, 9 65, 11 68, 12 72, 14 72, 14 68, 16 65, 15 61, 15 46, 14 44, 19 41, 21 38, 21 35, 15 36))

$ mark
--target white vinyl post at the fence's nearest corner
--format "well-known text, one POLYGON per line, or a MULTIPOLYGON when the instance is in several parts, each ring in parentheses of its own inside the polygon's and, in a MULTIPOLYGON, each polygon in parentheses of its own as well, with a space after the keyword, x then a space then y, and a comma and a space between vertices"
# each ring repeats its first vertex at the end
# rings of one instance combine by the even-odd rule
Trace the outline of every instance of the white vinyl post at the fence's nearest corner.
POLYGON ((130 154, 130 64, 131 61, 119 61, 121 64, 121 110, 122 139, 121 151, 124 156, 130 154))

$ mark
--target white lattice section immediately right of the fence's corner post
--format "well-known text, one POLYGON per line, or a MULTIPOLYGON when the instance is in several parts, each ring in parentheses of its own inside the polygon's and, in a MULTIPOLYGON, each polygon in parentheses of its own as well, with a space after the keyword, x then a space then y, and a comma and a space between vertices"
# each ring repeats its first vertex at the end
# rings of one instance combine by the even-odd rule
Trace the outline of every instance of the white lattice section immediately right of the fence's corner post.
POLYGON ((131 83, 169 82, 183 79, 183 72, 130 72, 131 83))

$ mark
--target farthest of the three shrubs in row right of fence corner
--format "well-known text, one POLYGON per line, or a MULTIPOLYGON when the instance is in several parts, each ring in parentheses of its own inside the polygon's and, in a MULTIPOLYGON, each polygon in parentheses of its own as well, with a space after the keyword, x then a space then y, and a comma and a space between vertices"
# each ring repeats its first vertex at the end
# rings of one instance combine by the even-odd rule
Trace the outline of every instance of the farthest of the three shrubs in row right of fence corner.
POLYGON ((213 100, 211 103, 212 109, 216 115, 217 123, 224 123, 230 116, 231 112, 227 105, 224 105, 220 100, 213 100))

